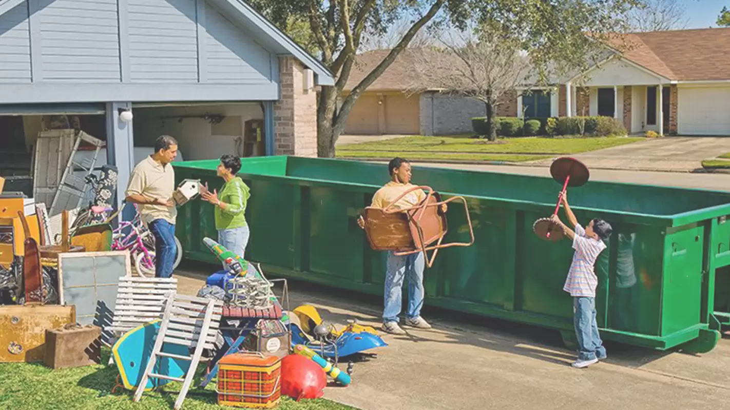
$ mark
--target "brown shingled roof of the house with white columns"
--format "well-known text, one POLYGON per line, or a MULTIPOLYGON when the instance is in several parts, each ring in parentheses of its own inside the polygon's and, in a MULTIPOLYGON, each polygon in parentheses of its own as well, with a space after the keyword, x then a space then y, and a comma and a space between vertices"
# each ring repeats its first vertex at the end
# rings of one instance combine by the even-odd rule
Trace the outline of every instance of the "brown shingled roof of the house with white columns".
POLYGON ((730 28, 652 31, 625 36, 622 58, 673 81, 730 79, 730 28))

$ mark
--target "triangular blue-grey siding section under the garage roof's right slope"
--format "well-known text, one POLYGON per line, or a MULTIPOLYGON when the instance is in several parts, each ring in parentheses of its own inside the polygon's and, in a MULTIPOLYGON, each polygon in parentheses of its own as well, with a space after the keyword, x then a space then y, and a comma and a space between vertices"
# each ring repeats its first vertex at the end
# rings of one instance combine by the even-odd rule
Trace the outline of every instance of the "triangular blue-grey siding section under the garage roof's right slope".
POLYGON ((206 66, 209 82, 264 82, 271 77, 271 54, 206 5, 206 66))

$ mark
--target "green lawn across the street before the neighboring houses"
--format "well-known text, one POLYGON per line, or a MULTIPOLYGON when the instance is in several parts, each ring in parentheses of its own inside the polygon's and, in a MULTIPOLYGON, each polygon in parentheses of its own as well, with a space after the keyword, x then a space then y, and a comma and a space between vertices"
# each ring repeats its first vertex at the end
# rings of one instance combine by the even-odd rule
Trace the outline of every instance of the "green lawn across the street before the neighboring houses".
POLYGON ((578 154, 621 146, 645 138, 500 138, 494 143, 464 136, 412 136, 385 141, 353 143, 337 147, 340 158, 461 159, 492 161, 532 161, 560 154, 578 154))

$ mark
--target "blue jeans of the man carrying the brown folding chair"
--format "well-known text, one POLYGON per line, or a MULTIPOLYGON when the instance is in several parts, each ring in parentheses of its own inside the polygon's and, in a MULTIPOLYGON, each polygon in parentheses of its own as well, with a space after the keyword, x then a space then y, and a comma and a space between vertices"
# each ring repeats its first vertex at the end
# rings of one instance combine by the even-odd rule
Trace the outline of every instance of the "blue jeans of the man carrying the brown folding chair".
POLYGON ((407 318, 418 318, 423 307, 423 253, 396 256, 388 252, 388 267, 385 271, 384 322, 398 322, 401 313, 403 280, 408 277, 407 318))

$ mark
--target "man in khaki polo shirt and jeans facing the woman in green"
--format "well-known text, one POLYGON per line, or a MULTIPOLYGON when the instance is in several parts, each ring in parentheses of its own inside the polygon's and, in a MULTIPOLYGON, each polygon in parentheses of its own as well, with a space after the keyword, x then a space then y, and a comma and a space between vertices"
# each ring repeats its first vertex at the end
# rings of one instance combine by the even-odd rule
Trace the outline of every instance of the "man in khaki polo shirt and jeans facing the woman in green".
POLYGON ((172 200, 175 173, 172 162, 177 156, 177 141, 161 135, 155 141, 155 153, 139 162, 129 178, 126 201, 139 206, 142 221, 155 236, 155 277, 171 277, 177 256, 175 216, 172 200))

